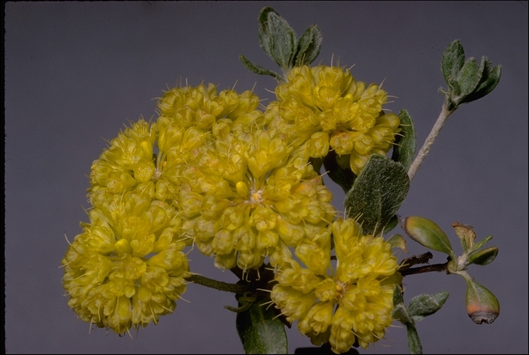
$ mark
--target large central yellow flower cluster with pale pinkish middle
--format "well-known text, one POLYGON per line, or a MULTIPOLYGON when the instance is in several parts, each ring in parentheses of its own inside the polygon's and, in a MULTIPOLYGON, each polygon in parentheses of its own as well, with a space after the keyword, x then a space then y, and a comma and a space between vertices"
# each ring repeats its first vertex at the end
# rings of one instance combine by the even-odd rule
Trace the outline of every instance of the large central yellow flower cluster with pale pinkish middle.
POLYGON ((183 171, 181 214, 200 252, 222 269, 258 268, 290 259, 329 259, 331 193, 283 135, 254 128, 205 145, 183 171))

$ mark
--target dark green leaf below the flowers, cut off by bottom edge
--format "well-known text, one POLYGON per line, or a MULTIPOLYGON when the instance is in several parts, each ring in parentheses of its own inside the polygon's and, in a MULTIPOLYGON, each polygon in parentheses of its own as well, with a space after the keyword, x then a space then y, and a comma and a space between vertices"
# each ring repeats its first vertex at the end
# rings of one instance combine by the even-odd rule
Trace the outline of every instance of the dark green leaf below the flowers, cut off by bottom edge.
POLYGON ((249 310, 237 313, 237 332, 246 354, 288 354, 287 334, 273 308, 254 302, 249 310))

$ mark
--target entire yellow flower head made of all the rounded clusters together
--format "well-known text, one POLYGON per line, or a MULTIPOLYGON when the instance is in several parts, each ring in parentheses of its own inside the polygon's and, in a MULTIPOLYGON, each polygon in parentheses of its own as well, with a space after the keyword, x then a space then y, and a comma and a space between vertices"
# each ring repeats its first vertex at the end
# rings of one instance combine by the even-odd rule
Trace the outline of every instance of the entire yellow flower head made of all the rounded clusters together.
POLYGON ((389 150, 399 119, 382 111, 385 91, 336 67, 294 68, 276 94, 263 112, 251 91, 170 89, 156 122, 110 141, 91 167, 90 222, 62 260, 82 320, 117 333, 157 323, 186 290, 183 249, 196 245, 222 269, 258 269, 268 257, 279 270, 272 299, 315 344, 340 352, 384 336, 396 261, 354 221, 333 223, 310 159, 334 150, 359 174, 389 150))

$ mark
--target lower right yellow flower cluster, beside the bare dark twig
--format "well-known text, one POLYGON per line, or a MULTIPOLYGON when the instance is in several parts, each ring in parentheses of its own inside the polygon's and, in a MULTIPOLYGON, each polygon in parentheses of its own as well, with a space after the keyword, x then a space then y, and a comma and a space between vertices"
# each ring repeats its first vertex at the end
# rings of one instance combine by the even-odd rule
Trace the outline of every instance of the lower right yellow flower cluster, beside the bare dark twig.
POLYGON ((336 267, 302 268, 292 260, 275 276, 271 298, 289 322, 315 345, 330 342, 336 354, 358 340, 367 349, 392 322, 393 287, 402 277, 397 259, 382 237, 361 235, 354 220, 332 225, 336 267))

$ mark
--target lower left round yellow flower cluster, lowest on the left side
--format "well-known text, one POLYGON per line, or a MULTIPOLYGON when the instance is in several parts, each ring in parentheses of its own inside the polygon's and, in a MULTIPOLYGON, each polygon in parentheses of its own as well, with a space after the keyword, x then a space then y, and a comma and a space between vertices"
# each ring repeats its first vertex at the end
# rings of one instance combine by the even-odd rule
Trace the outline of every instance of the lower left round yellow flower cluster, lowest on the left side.
POLYGON ((138 191, 108 206, 81 223, 62 259, 62 284, 81 320, 123 334, 173 312, 190 273, 173 208, 138 191))

